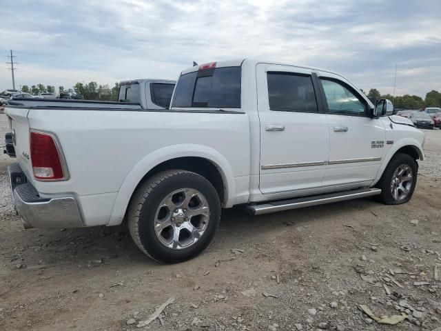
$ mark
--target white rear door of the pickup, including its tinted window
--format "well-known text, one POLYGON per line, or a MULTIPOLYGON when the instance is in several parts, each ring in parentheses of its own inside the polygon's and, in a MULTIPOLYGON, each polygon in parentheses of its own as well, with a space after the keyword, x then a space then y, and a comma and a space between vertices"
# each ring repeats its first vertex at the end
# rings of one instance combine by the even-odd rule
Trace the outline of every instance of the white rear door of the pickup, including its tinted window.
POLYGON ((320 189, 329 154, 329 126, 313 72, 257 65, 260 191, 320 189))

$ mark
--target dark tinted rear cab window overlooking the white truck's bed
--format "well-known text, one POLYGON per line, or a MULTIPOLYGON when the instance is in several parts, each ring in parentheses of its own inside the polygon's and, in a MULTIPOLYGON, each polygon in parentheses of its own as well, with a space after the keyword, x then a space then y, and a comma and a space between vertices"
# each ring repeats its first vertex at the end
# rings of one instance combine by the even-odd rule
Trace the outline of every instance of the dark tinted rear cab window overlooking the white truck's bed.
POLYGON ((240 108, 240 66, 200 69, 182 74, 172 107, 240 108))

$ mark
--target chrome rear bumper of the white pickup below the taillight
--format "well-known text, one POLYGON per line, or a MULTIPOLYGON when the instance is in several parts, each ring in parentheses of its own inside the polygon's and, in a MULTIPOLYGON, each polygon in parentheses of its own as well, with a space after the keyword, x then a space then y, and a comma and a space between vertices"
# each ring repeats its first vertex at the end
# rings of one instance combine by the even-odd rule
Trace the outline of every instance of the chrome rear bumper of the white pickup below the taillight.
POLYGON ((28 182, 19 163, 8 167, 14 209, 28 228, 79 228, 83 226, 74 197, 42 198, 28 182))

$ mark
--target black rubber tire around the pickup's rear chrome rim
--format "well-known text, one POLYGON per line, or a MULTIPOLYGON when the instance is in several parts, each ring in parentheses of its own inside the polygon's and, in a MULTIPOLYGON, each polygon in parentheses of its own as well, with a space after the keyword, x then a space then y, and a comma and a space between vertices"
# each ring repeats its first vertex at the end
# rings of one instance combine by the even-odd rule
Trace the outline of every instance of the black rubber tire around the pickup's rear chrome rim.
POLYGON ((147 179, 136 190, 129 205, 127 221, 133 241, 145 254, 158 262, 178 263, 196 257, 212 241, 220 221, 220 201, 216 189, 205 177, 185 170, 166 170, 147 179), (184 188, 203 194, 209 207, 209 217, 203 234, 196 242, 188 248, 169 248, 157 237, 155 219, 161 201, 184 188))

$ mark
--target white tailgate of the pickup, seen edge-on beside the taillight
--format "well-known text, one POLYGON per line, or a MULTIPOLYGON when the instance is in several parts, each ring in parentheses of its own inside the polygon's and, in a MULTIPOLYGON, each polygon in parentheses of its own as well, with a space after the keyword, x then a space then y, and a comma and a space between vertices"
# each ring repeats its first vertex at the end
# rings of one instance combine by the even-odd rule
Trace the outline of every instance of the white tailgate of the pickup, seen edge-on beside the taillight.
POLYGON ((32 164, 30 161, 29 121, 27 108, 5 108, 12 129, 12 143, 14 143, 17 161, 26 177, 32 181, 32 164))

